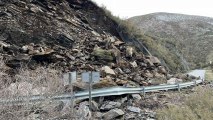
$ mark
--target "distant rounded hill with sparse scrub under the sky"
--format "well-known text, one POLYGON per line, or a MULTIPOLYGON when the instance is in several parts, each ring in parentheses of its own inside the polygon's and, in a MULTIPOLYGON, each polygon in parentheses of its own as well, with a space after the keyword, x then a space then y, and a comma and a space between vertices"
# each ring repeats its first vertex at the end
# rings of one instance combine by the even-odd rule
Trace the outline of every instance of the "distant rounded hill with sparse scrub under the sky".
POLYGON ((213 19, 171 13, 153 13, 128 19, 141 32, 170 51, 184 69, 212 60, 213 19))

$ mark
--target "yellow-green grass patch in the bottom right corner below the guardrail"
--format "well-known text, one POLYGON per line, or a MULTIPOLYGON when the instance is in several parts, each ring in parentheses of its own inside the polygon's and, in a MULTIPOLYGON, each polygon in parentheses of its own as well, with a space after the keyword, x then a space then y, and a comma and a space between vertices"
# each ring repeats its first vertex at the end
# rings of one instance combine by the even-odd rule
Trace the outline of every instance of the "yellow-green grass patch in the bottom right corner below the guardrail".
POLYGON ((213 118, 212 88, 199 88, 182 105, 158 110, 158 120, 211 120, 213 118))

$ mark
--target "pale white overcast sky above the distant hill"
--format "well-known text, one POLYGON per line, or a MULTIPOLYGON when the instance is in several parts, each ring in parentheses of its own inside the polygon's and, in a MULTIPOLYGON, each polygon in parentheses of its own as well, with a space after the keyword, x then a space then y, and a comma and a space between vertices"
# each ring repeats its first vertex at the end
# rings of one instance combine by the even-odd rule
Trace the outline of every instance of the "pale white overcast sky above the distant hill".
POLYGON ((128 18, 154 12, 213 17, 212 0, 93 0, 114 15, 128 18))

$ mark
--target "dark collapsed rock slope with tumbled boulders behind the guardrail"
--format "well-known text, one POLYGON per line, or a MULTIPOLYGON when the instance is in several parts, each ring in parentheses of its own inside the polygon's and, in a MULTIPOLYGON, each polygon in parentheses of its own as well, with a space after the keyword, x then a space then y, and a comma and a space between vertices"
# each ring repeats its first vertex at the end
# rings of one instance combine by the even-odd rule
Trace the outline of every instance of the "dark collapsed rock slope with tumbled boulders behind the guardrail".
MULTIPOLYGON (((119 85, 132 80, 137 86, 160 66, 156 57, 126 44, 117 23, 91 1, 1 1, 0 8, 0 53, 11 68, 42 64, 62 71, 101 71, 103 79, 109 75, 119 85)), ((159 74, 166 74, 163 66, 159 74)))

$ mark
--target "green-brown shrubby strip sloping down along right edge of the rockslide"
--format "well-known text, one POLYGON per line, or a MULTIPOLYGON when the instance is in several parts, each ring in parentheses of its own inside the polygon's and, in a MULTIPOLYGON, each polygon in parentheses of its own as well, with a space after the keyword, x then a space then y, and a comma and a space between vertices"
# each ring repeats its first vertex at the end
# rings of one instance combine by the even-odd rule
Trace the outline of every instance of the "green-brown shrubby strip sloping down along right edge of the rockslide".
POLYGON ((102 6, 105 14, 114 20, 118 26, 116 30, 123 41, 127 44, 133 45, 145 55, 157 56, 162 65, 164 65, 170 72, 180 72, 188 70, 189 68, 181 62, 182 56, 177 56, 163 45, 163 41, 156 42, 156 38, 144 34, 137 27, 129 21, 123 20, 117 16, 113 16, 105 6, 102 6))

